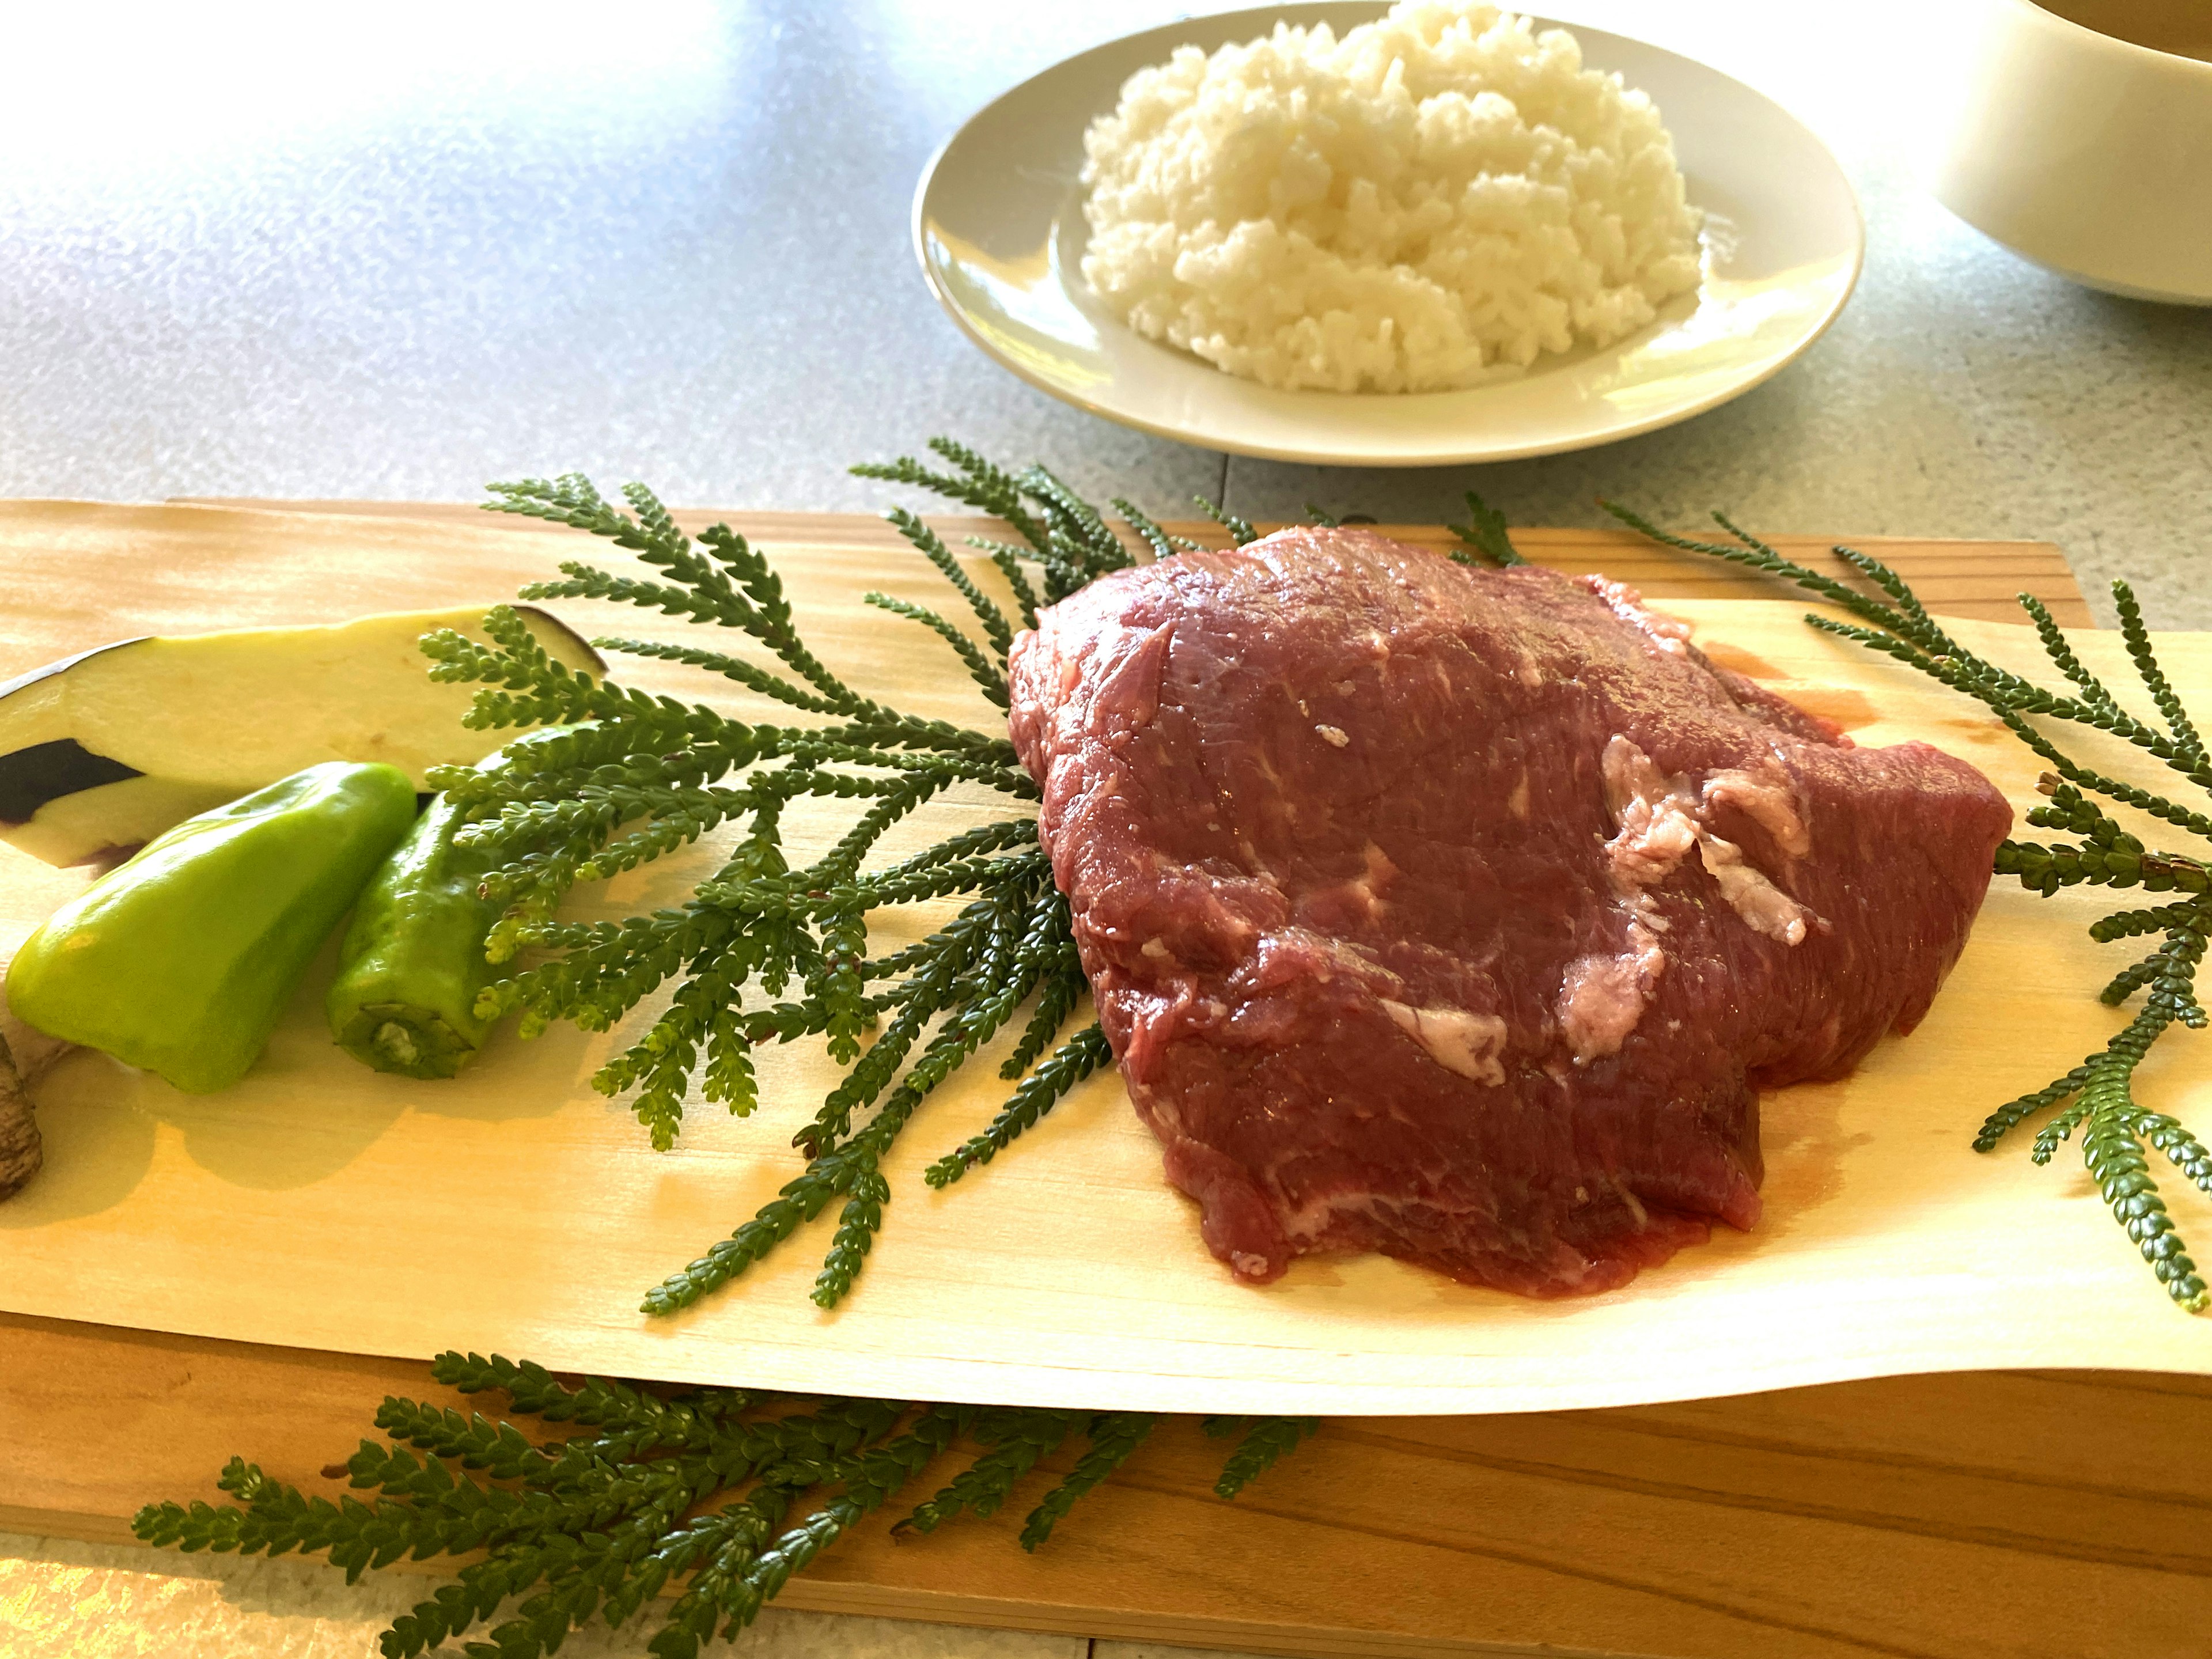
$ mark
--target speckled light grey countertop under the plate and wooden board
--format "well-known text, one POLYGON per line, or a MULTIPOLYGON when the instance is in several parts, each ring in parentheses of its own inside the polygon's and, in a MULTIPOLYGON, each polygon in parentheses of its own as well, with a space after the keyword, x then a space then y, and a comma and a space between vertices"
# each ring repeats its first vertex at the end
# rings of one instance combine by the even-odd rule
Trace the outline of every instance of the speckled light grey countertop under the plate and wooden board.
MULTIPOLYGON (((1860 190, 1867 272, 1732 405, 1429 473, 1108 427, 998 372, 925 292, 907 206, 931 148, 1168 0, 24 9, 0 100, 0 493, 465 500, 580 467, 679 502, 869 509, 847 462, 953 431, 1164 511, 1203 491, 1254 518, 1425 518, 1473 484, 1522 524, 1597 522, 1604 489, 1672 522, 2037 538, 2086 586, 2128 573, 2157 624, 2208 628, 2212 310, 2073 288, 1922 192, 1962 4, 1562 4, 1796 108, 1860 190)), ((414 1588, 0 1540, 0 1652, 363 1655, 414 1588)), ((752 1644, 1084 1650, 807 1615, 752 1644)))

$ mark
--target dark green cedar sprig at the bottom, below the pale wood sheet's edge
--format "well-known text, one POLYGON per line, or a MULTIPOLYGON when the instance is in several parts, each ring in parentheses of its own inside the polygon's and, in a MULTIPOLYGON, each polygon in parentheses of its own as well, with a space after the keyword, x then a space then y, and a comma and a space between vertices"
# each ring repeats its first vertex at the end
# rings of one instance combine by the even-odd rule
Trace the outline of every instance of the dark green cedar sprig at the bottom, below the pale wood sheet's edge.
MULTIPOLYGON (((133 1533, 188 1553, 321 1553, 347 1584, 403 1557, 482 1551, 394 1619, 385 1659, 478 1628, 469 1652, 540 1659, 593 1619, 622 1626, 655 1604, 661 1624, 648 1652, 692 1659, 750 1626, 821 1551, 947 1458, 978 1453, 894 1531, 995 1513, 1079 1436, 1084 1453, 1022 1524, 1022 1548, 1037 1548, 1157 1422, 1133 1411, 657 1394, 602 1378, 571 1387, 538 1365, 480 1354, 440 1354, 431 1376, 460 1394, 507 1394, 507 1416, 387 1398, 376 1411, 383 1440, 363 1440, 345 1460, 361 1495, 307 1495, 232 1458, 217 1486, 234 1502, 148 1504, 133 1533), (533 1438, 515 1416, 573 1433, 533 1438)), ((1307 1418, 1254 1420, 1217 1491, 1234 1495, 1310 1431, 1307 1418)))

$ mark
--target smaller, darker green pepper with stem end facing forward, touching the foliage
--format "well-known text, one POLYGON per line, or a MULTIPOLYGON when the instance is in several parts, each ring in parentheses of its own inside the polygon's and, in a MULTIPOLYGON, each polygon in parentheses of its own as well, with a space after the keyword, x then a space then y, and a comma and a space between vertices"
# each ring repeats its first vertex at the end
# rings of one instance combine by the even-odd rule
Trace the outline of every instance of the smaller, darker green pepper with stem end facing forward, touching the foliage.
POLYGON ((495 860, 456 847, 460 825, 440 794, 369 878, 345 931, 323 1006, 338 1046, 376 1071, 451 1077, 491 1033, 476 993, 493 978, 484 940, 502 907, 476 889, 495 860))

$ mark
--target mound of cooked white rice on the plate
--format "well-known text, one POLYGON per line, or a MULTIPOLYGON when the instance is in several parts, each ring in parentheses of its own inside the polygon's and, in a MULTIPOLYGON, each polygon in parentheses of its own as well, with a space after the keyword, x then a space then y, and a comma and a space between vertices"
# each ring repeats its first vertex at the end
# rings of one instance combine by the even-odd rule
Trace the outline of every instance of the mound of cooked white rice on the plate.
POLYGON ((1084 150, 1091 288, 1272 387, 1475 385, 1632 334, 1699 279, 1652 102, 1489 4, 1183 46, 1084 150))

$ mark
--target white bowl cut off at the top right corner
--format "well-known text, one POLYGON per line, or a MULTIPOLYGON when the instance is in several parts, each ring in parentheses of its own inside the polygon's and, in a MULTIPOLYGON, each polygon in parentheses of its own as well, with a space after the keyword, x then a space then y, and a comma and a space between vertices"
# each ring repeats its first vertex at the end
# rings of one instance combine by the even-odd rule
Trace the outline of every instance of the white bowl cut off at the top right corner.
POLYGON ((1978 0, 1936 199, 2088 288, 2212 305, 2212 0, 1978 0))

